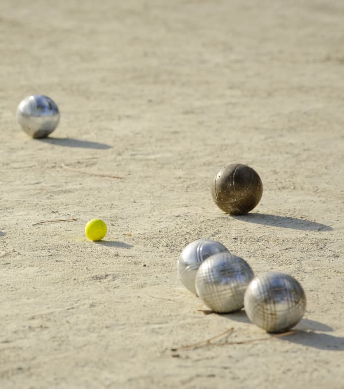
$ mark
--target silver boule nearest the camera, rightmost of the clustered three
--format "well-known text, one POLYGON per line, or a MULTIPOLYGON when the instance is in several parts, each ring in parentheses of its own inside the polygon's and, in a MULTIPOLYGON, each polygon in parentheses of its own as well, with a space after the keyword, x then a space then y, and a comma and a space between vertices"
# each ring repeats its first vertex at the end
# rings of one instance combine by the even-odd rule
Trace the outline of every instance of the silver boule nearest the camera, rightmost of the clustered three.
POLYGON ((296 325, 306 310, 306 295, 291 276, 267 272, 248 286, 244 307, 252 323, 268 332, 284 332, 296 325))

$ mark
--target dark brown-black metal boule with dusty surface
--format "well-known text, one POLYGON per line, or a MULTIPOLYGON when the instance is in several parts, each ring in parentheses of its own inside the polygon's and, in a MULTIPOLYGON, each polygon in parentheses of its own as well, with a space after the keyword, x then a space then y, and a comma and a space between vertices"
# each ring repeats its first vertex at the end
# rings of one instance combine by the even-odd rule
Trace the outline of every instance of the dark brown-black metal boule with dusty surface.
POLYGON ((224 212, 243 215, 258 205, 263 185, 252 167, 231 163, 216 173, 211 194, 215 204, 224 212))

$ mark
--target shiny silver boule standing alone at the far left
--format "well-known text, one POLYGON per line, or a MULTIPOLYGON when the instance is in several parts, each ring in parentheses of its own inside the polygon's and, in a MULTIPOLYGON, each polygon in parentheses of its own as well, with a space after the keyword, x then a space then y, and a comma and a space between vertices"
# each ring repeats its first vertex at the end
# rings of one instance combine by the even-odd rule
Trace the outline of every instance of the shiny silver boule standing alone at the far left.
POLYGON ((26 97, 17 108, 17 121, 32 138, 48 136, 57 128, 59 118, 56 103, 43 95, 26 97))

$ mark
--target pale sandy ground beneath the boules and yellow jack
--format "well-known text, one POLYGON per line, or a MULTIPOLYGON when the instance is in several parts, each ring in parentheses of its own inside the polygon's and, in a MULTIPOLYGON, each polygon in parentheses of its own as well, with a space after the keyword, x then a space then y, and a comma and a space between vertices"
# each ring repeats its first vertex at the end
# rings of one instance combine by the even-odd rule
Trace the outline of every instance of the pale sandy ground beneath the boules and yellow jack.
POLYGON ((343 20, 341 0, 0 1, 1 388, 343 388, 343 20), (48 139, 16 123, 30 94, 58 104, 48 139), (231 162, 263 182, 246 216, 211 198, 231 162), (203 314, 176 274, 201 237, 296 277, 299 331, 203 314), (229 328, 268 340, 171 350, 229 328))

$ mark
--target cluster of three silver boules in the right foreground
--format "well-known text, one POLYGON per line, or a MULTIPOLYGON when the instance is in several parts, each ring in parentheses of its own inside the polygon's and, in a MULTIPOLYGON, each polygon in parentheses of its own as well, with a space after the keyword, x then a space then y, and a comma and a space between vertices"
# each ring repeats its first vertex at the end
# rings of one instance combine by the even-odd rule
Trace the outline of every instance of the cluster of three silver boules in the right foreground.
POLYGON ((181 283, 216 313, 244 308, 252 323, 268 332, 284 332, 306 310, 301 285, 288 274, 267 272, 255 277, 251 266, 220 242, 199 239, 178 259, 181 283))

